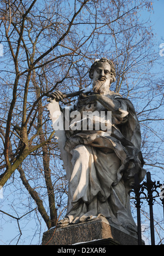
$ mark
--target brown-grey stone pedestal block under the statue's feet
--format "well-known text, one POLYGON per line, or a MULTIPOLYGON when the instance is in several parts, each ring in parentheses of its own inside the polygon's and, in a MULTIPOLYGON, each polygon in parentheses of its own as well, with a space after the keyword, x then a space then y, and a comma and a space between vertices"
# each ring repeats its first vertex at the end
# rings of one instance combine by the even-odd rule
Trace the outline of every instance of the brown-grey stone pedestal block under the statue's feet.
POLYGON ((109 224, 106 218, 53 228, 43 234, 42 245, 138 245, 137 235, 109 224))

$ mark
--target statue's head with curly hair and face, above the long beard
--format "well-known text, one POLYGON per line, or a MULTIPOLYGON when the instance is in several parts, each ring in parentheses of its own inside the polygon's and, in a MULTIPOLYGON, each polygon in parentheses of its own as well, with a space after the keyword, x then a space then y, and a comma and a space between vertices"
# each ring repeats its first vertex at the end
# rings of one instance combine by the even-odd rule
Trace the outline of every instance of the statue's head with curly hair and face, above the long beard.
POLYGON ((109 87, 116 80, 114 64, 106 58, 96 60, 90 68, 89 75, 93 79, 93 83, 98 80, 108 83, 109 87))

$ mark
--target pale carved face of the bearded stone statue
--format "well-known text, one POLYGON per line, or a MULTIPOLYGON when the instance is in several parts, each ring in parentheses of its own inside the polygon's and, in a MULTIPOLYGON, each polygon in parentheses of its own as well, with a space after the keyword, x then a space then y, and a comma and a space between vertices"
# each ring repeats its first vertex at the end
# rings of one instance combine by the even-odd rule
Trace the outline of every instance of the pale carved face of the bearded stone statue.
POLYGON ((111 67, 108 62, 98 62, 93 71, 93 83, 97 80, 110 84, 111 67), (108 83, 109 82, 109 83, 108 83))

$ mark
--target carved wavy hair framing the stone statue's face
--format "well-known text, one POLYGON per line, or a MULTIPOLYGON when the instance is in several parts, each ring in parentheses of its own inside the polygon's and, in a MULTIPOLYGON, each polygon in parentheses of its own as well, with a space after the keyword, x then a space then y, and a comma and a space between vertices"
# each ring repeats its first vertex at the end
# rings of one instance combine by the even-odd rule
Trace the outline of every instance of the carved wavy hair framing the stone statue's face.
POLYGON ((90 71, 89 71, 89 76, 90 76, 90 78, 91 78, 91 79, 93 78, 93 72, 95 71, 95 68, 96 68, 96 65, 97 65, 98 62, 107 62, 107 63, 110 65, 110 67, 111 67, 111 80, 110 80, 110 84, 112 84, 113 82, 115 82, 115 80, 116 80, 116 78, 115 78, 116 73, 115 73, 114 63, 113 63, 112 61, 106 59, 106 58, 102 58, 102 59, 100 59, 100 60, 96 60, 96 61, 92 64, 92 66, 91 66, 91 68, 90 68, 90 71))

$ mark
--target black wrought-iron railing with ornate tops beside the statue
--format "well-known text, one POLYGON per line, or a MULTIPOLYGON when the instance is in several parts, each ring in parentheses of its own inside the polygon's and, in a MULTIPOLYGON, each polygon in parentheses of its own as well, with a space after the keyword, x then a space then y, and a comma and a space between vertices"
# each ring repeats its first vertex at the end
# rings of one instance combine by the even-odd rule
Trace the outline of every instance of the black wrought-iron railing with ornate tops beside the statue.
POLYGON ((151 233, 151 245, 155 245, 155 232, 154 232, 154 216, 153 205, 156 197, 160 197, 163 205, 163 218, 164 218, 164 186, 159 181, 151 181, 151 174, 147 172, 147 181, 139 184, 138 174, 134 177, 133 190, 130 193, 134 193, 134 204, 137 208, 137 228, 138 228, 138 245, 142 245, 142 229, 140 208, 142 206, 142 200, 146 199, 150 210, 150 233, 151 233))

